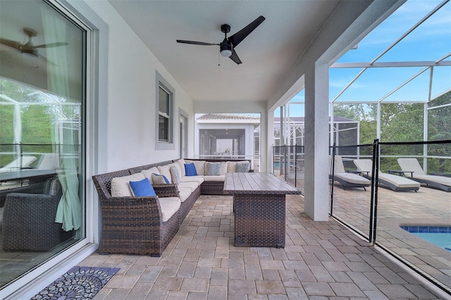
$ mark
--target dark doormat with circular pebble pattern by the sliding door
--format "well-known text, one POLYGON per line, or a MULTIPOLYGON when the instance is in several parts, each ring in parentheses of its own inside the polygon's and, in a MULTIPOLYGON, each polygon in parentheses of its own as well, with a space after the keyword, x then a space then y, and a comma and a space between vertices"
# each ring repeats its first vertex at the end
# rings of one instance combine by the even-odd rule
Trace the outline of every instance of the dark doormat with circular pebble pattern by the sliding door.
POLYGON ((119 268, 73 267, 51 285, 34 296, 35 299, 92 299, 119 268))

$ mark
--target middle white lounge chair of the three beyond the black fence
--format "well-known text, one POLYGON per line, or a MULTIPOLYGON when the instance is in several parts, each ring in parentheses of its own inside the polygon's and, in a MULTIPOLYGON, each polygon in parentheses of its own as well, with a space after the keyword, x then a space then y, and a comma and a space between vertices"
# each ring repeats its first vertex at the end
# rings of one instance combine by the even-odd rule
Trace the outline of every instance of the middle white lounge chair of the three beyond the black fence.
MULTIPOLYGON (((373 161, 371 161, 371 159, 354 159, 354 165, 357 167, 357 170, 362 171, 362 173, 366 173, 366 175, 364 175, 365 177, 371 178, 373 176, 371 174, 371 170, 373 168, 373 161)), ((409 178, 382 173, 381 171, 379 171, 378 181, 383 187, 387 187, 395 192, 416 192, 421 186, 419 182, 410 180, 409 178)))

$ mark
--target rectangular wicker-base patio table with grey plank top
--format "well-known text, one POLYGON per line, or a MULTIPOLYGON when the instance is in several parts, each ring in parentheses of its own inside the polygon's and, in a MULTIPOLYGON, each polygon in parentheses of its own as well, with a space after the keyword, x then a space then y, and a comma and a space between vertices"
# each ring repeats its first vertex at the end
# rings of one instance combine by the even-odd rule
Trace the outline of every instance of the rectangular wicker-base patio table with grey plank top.
POLYGON ((285 247, 285 195, 299 190, 271 173, 226 173, 233 195, 235 246, 285 247))

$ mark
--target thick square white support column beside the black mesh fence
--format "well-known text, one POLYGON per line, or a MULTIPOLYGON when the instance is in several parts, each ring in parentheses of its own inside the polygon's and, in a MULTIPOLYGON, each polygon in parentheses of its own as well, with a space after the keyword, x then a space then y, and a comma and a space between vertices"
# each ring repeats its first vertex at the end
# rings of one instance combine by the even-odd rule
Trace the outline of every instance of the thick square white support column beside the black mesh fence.
POLYGON ((328 220, 328 81, 327 63, 305 73, 305 201, 304 211, 315 221, 328 220))

